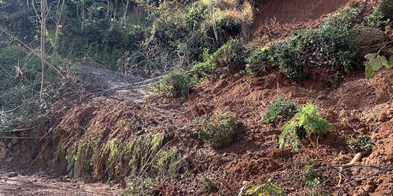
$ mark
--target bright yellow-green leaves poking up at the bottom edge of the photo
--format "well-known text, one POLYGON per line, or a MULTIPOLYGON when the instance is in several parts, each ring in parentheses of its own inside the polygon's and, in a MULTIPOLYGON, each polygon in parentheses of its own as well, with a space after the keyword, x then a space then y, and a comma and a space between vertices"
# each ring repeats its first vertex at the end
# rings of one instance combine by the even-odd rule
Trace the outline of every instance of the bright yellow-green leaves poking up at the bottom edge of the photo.
POLYGON ((243 182, 243 187, 240 189, 239 196, 286 196, 287 194, 280 188, 275 187, 271 180, 268 183, 258 184, 246 191, 248 181, 243 182))

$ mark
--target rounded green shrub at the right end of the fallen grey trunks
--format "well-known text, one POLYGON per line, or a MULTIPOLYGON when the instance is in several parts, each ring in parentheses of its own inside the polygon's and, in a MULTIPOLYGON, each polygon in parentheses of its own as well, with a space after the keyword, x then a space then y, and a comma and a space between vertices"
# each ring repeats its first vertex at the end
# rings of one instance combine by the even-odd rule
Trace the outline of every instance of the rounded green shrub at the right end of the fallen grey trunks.
POLYGON ((173 70, 162 76, 156 90, 163 91, 171 95, 174 91, 179 92, 183 97, 188 95, 189 89, 196 84, 195 79, 191 78, 180 70, 173 70))

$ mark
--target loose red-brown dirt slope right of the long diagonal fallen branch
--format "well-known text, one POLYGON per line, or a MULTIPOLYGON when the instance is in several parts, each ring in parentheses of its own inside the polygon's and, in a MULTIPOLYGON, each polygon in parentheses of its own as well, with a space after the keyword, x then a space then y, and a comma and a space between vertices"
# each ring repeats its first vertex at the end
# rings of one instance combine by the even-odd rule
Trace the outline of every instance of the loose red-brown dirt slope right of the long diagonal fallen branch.
MULTIPOLYGON (((175 113, 176 123, 187 124, 196 116, 217 111, 230 111, 239 120, 236 142, 226 149, 214 150, 208 145, 198 142, 195 132, 189 134, 189 147, 202 170, 221 183, 217 192, 225 195, 236 195, 242 181, 253 180, 256 183, 285 179, 305 170, 309 160, 316 160, 316 166, 325 167, 341 165, 351 161, 354 154, 347 150, 347 138, 359 133, 372 135, 376 142, 371 156, 364 158, 362 165, 391 167, 387 162, 385 147, 391 141, 393 106, 393 88, 390 79, 393 74, 388 71, 379 72, 375 78, 368 80, 362 73, 345 78, 336 89, 326 88, 323 83, 304 81, 293 84, 281 73, 272 73, 263 78, 253 78, 236 74, 220 80, 206 80, 198 85, 190 98, 179 104, 178 99, 159 98, 154 100, 157 107, 175 113), (260 113, 278 94, 298 103, 313 102, 320 109, 320 114, 332 123, 332 131, 319 138, 303 139, 300 152, 281 150, 278 148, 278 136, 281 123, 264 124, 260 113), (373 116, 379 116, 380 122, 373 116), (374 120, 373 120, 374 119, 374 120), (193 142, 191 142, 193 141, 193 142), (197 145, 197 146, 195 146, 197 145), (281 168, 279 172, 274 172, 281 168), (269 175, 268 175, 269 174, 269 175)), ((325 179, 334 172, 323 172, 325 179)), ((371 171, 358 171, 345 174, 345 181, 357 179, 371 174, 371 171)), ((376 183, 371 195, 382 195, 390 191, 393 185, 389 176, 377 176, 370 179, 376 183)), ((334 192, 338 177, 332 178, 322 190, 334 192)), ((198 192, 197 182, 190 180, 187 185, 175 183, 177 192, 195 194, 198 192)), ((303 180, 292 180, 283 184, 290 195, 309 195, 303 180)), ((368 181, 364 182, 366 185, 368 181)), ((166 186, 168 187, 168 186, 166 186)), ((357 194, 361 184, 345 189, 349 195, 357 194)), ((171 192, 168 189, 169 192, 171 192)), ((174 192, 171 192, 174 194, 174 192)), ((169 193, 167 193, 169 194, 169 193)), ((177 194, 175 194, 177 195, 177 194)), ((183 194, 179 194, 183 195, 183 194)))

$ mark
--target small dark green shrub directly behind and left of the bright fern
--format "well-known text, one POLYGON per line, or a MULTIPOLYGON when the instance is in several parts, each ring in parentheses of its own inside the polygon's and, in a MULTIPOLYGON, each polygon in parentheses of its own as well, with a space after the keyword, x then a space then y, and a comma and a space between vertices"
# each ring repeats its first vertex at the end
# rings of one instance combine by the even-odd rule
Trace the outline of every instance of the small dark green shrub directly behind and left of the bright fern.
POLYGON ((288 120, 298 112, 299 106, 295 102, 285 100, 281 94, 269 103, 264 113, 261 114, 264 123, 288 120))

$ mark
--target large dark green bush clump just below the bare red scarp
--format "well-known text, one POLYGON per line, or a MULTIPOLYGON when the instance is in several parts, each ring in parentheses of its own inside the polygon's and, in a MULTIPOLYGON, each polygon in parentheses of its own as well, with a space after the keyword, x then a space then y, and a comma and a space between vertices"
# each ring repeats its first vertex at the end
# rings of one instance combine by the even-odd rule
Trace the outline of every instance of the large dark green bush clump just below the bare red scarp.
POLYGON ((293 31, 287 42, 270 47, 269 61, 292 80, 308 76, 313 67, 341 68, 348 73, 358 65, 350 29, 359 14, 360 8, 346 7, 325 18, 317 29, 293 31))

